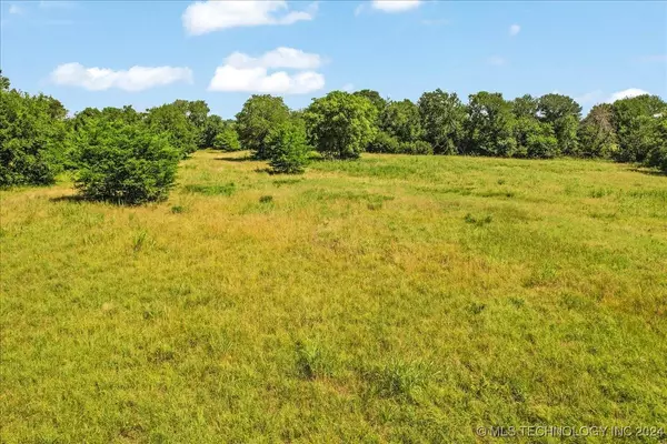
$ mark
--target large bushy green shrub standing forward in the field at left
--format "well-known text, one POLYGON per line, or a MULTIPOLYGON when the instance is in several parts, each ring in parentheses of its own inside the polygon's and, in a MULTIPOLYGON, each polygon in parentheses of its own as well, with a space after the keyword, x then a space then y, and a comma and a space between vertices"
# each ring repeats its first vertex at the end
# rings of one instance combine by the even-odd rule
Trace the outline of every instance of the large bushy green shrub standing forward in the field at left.
POLYGON ((76 139, 74 185, 92 200, 138 204, 167 198, 181 151, 141 123, 93 121, 76 139))

